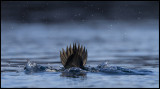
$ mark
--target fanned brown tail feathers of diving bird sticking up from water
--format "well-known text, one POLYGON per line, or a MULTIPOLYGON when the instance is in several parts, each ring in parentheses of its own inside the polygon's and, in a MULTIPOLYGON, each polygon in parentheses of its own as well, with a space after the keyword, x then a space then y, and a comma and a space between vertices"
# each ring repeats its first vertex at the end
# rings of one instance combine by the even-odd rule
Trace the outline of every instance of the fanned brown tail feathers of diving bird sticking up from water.
POLYGON ((62 52, 60 51, 60 58, 62 65, 64 68, 68 69, 71 67, 79 67, 81 69, 85 69, 84 65, 87 62, 87 49, 80 44, 78 44, 78 47, 76 46, 76 43, 73 43, 73 48, 70 47, 66 48, 66 51, 62 48, 62 52))

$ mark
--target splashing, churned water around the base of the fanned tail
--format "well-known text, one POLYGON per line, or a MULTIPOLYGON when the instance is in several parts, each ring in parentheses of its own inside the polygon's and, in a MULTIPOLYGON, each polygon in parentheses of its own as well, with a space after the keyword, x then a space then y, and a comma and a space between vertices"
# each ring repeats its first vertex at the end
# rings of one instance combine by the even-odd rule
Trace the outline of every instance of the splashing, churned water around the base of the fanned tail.
POLYGON ((34 62, 28 61, 24 67, 25 73, 36 73, 36 72, 62 72, 60 76, 77 78, 79 76, 86 76, 87 72, 91 73, 105 73, 106 75, 147 75, 151 74, 152 71, 145 69, 129 69, 122 68, 119 66, 108 66, 107 62, 99 64, 97 67, 86 66, 85 69, 71 67, 65 69, 64 67, 55 68, 52 66, 41 66, 34 62))

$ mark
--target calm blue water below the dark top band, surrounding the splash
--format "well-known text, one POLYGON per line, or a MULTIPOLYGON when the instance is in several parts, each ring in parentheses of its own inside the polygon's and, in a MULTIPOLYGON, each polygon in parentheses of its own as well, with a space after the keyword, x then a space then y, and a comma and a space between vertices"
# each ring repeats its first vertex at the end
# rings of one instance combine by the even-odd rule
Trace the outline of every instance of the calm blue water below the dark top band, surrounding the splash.
POLYGON ((1 23, 2 87, 159 87, 159 28, 157 20, 143 23, 93 21, 67 24, 1 23), (146 75, 60 72, 25 74, 26 59, 43 66, 62 67, 59 52, 77 42, 87 48, 87 66, 145 69, 146 75))

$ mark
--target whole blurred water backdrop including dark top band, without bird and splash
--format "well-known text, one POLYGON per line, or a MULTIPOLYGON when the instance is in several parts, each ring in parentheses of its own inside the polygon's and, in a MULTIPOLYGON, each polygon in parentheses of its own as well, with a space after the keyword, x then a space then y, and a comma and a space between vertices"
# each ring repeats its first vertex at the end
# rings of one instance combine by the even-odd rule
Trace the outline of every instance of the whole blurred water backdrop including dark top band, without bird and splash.
POLYGON ((158 1, 1 1, 1 87, 159 87, 158 1), (147 69, 152 75, 27 75, 30 59, 62 66, 60 50, 87 48, 87 65, 147 69))

